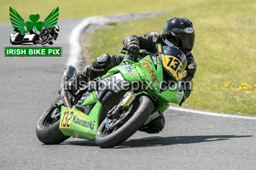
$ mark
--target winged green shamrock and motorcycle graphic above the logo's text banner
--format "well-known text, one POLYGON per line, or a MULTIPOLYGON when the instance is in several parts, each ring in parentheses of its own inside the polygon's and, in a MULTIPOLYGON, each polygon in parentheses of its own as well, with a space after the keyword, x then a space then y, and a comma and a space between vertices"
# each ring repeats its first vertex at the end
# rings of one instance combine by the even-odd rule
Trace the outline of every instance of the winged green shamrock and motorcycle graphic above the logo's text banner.
POLYGON ((13 45, 26 42, 52 45, 60 31, 60 27, 57 26, 59 7, 54 8, 44 21, 39 21, 39 14, 31 14, 30 21, 25 21, 15 8, 9 7, 9 18, 14 27, 14 32, 10 34, 10 42, 13 45), (26 34, 28 32, 29 34, 26 34))

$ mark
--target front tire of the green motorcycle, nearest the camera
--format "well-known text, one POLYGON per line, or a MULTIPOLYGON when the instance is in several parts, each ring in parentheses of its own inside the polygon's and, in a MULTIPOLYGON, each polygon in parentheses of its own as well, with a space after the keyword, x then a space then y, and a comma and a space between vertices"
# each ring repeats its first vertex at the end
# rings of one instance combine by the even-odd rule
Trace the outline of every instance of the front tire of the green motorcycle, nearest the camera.
POLYGON ((128 116, 125 116, 124 120, 117 123, 117 129, 113 132, 108 133, 106 127, 110 121, 108 117, 102 122, 96 133, 96 144, 101 148, 112 148, 130 138, 133 133, 136 133, 143 126, 148 116, 154 111, 153 102, 145 95, 139 96, 131 105, 135 105, 134 108, 131 109, 128 116))

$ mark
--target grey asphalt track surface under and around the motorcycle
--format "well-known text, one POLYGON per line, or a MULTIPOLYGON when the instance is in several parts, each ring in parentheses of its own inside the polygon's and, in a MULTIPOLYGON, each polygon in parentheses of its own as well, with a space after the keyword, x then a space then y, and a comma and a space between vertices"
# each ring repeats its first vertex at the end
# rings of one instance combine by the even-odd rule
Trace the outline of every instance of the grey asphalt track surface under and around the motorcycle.
POLYGON ((0 24, 0 169, 255 169, 255 120, 165 112, 158 134, 135 133, 113 149, 94 141, 38 141, 38 118, 55 99, 69 52, 68 37, 82 19, 61 20, 62 58, 4 58, 10 24, 0 24))

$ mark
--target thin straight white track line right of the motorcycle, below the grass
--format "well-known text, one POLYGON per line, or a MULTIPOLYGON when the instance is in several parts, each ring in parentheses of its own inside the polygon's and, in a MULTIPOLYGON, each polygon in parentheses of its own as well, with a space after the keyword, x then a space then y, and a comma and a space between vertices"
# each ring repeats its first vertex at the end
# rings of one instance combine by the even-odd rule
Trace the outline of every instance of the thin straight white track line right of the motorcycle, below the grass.
POLYGON ((253 116, 238 116, 238 115, 230 115, 230 114, 225 114, 225 113, 198 111, 198 110, 177 107, 177 106, 172 106, 172 105, 170 105, 168 109, 171 111, 183 111, 183 112, 195 113, 195 114, 201 114, 201 115, 207 115, 207 116, 222 116, 222 117, 229 117, 229 118, 256 120, 256 117, 253 117, 253 116))

